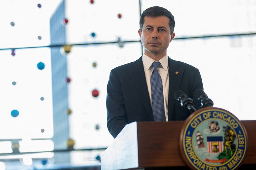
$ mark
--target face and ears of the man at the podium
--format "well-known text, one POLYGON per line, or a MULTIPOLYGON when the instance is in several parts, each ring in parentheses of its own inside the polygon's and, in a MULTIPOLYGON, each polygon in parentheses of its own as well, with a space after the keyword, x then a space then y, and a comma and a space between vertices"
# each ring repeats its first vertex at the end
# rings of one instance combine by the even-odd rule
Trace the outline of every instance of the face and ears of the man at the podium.
POLYGON ((175 33, 170 34, 169 18, 145 17, 142 30, 139 30, 140 40, 149 57, 166 55, 167 48, 175 33))

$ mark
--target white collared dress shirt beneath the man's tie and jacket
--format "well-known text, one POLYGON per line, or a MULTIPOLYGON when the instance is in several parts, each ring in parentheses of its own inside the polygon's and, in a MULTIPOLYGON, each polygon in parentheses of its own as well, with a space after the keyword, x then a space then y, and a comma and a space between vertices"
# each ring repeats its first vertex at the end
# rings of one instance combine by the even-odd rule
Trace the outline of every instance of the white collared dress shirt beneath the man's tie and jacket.
MULTIPOLYGON (((144 66, 144 72, 146 76, 146 82, 148 85, 148 94, 150 98, 150 103, 152 104, 151 100, 151 75, 154 70, 152 63, 155 60, 147 56, 145 53, 142 55, 142 63, 144 66)), ((158 73, 161 76, 162 83, 163 83, 163 92, 164 92, 164 113, 166 122, 168 121, 168 92, 169 92, 169 67, 168 67, 168 57, 167 54, 159 60, 160 65, 157 68, 158 73)))

